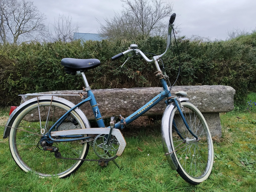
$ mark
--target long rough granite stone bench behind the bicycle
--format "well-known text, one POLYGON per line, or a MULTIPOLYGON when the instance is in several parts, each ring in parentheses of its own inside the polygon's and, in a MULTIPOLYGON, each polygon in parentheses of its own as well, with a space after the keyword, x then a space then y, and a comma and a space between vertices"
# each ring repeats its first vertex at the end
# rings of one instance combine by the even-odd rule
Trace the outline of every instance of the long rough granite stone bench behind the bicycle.
MULTIPOLYGON (((92 90, 98 102, 103 118, 111 116, 129 116, 134 111, 142 107, 163 88, 131 88, 131 89, 97 89, 92 90)), ((223 85, 202 85, 202 86, 174 86, 171 93, 186 91, 189 102, 193 103, 204 115, 209 126, 212 137, 221 137, 220 113, 231 111, 234 108, 235 90, 230 86, 223 85)), ((78 96, 81 90, 72 91, 52 91, 33 94, 60 94, 60 97, 67 99, 74 104, 81 101, 78 96), (74 96, 61 96, 61 94, 74 94, 74 96)), ((29 100, 35 96, 23 96, 29 100)), ((24 100, 22 100, 24 102, 24 100)), ((162 115, 166 105, 164 100, 151 108, 144 116, 162 115)), ((94 119, 92 108, 89 102, 80 107, 89 120, 94 119)))

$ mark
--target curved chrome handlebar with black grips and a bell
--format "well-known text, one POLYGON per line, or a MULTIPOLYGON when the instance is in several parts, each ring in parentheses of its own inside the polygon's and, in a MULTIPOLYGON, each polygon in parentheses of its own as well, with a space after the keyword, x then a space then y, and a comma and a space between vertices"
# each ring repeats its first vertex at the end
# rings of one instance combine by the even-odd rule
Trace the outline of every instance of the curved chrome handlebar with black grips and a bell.
POLYGON ((130 52, 135 52, 137 55, 140 54, 144 60, 146 60, 148 63, 154 63, 155 61, 163 58, 169 51, 170 51, 170 47, 171 47, 171 34, 172 34, 172 28, 173 28, 173 22, 176 18, 176 13, 172 13, 170 20, 169 20, 169 26, 168 26, 168 36, 167 36, 167 45, 166 45, 166 50, 163 54, 158 55, 158 56, 154 56, 153 59, 148 59, 148 57, 139 49, 136 49, 136 47, 130 47, 128 50, 119 53, 117 55, 115 55, 114 57, 111 57, 111 60, 116 60, 130 52))

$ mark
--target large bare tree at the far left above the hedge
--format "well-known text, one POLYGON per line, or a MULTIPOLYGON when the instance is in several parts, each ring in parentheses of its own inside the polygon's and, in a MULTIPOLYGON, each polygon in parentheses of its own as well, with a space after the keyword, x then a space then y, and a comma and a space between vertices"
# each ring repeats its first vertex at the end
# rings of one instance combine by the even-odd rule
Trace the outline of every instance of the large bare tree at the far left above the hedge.
POLYGON ((0 0, 0 36, 3 43, 41 40, 45 31, 44 14, 27 0, 0 0))

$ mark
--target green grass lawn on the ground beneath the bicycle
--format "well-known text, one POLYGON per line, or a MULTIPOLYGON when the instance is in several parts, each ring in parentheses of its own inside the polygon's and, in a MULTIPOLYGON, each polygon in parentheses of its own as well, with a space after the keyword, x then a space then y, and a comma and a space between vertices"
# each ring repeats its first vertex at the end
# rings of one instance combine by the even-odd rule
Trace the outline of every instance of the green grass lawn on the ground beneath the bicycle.
MULTIPOLYGON (((255 93, 249 95, 250 100, 256 101, 255 93)), ((112 162, 103 168, 85 162, 66 179, 39 178, 21 171, 12 159, 8 139, 0 139, 0 191, 256 191, 256 111, 244 108, 220 118, 222 138, 214 142, 212 173, 197 186, 171 170, 162 148, 160 125, 155 123, 124 132, 127 147, 116 159, 120 170, 112 162)), ((0 135, 7 119, 8 110, 0 110, 0 135)))

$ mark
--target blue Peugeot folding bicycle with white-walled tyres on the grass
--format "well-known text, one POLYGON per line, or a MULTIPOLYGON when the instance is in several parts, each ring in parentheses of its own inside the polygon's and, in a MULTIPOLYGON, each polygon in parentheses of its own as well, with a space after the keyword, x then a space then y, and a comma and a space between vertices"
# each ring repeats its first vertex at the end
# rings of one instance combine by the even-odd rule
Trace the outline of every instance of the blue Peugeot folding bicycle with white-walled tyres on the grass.
POLYGON ((115 117, 111 117, 110 125, 106 127, 84 74, 88 69, 99 66, 100 61, 64 58, 61 65, 68 74, 83 77, 84 92, 87 94, 80 93, 82 101, 77 105, 54 95, 43 95, 16 108, 4 129, 4 138, 9 136, 10 151, 16 164, 25 172, 60 178, 68 177, 84 161, 98 161, 102 166, 109 161, 116 164, 115 158, 122 155, 126 146, 120 129, 165 99, 166 109, 161 129, 164 155, 168 163, 191 184, 196 185, 206 180, 213 164, 213 144, 207 123, 201 112, 188 102, 186 92, 171 95, 171 87, 166 82, 168 76, 158 65, 158 60, 169 52, 175 16, 173 13, 169 20, 167 47, 163 54, 149 59, 138 49, 138 45, 132 44, 127 51, 111 58, 116 60, 127 55, 129 59, 140 55, 148 63, 154 63, 156 77, 163 86, 160 94, 130 116, 120 115, 118 122, 115 117), (85 102, 90 103, 98 128, 91 128, 88 119, 79 109, 85 102), (89 146, 98 159, 86 159, 89 146))

